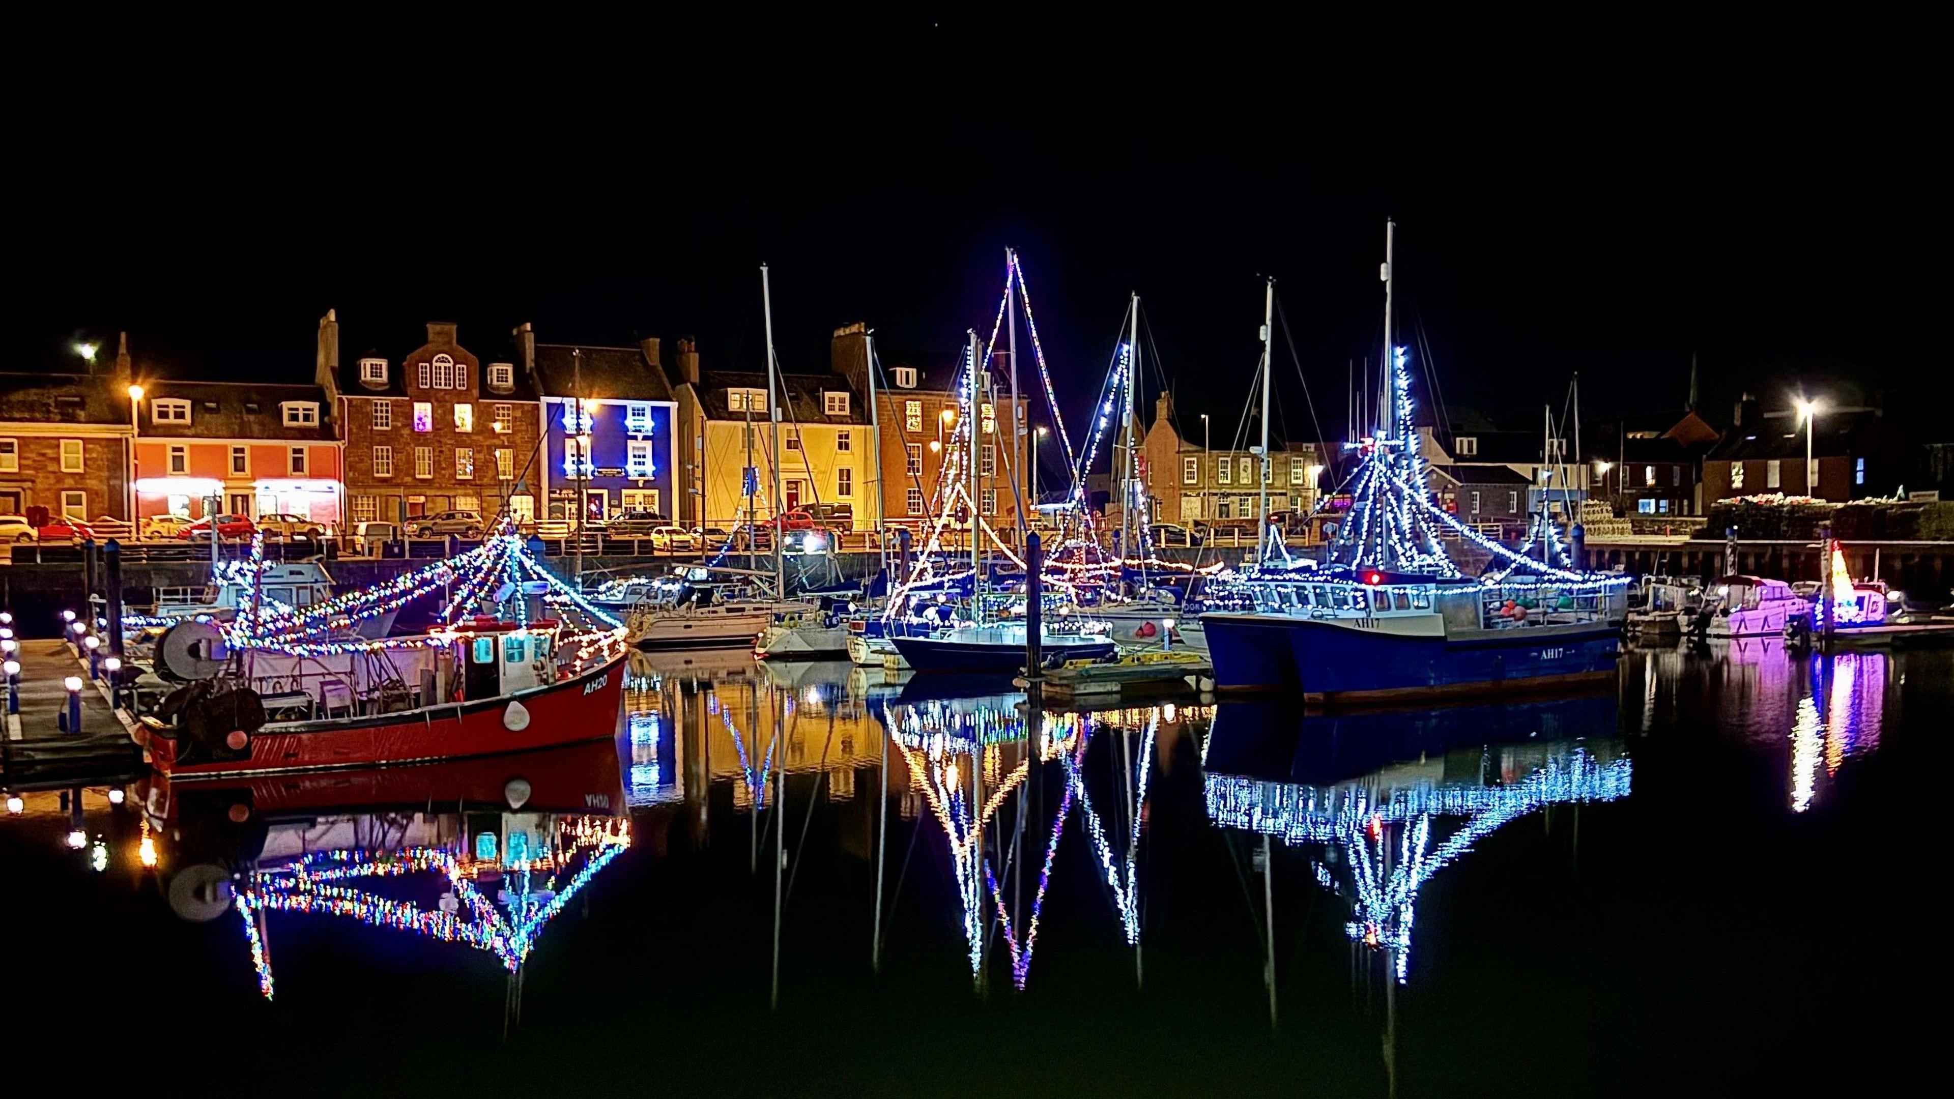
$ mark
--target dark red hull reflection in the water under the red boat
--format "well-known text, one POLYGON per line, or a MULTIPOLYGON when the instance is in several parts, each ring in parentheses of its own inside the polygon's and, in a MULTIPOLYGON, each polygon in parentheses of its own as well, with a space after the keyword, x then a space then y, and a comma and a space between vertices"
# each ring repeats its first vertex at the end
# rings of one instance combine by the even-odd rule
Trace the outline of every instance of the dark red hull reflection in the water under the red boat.
MULTIPOLYGON (((160 819, 174 817, 168 774, 154 774, 145 796, 160 819)), ((576 745, 451 759, 414 767, 365 767, 303 774, 252 774, 186 784, 188 798, 221 798, 246 806, 254 817, 354 813, 387 808, 459 810, 510 806, 524 812, 610 815, 623 812, 617 745, 576 745)))

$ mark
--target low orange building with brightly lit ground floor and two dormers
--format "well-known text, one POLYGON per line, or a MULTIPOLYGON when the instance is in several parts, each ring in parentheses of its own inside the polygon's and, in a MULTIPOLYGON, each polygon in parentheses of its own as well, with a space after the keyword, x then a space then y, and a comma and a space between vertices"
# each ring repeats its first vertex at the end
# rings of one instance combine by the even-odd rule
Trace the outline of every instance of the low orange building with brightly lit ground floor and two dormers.
POLYGON ((342 518, 340 446, 319 385, 143 381, 135 440, 137 518, 295 514, 342 518))

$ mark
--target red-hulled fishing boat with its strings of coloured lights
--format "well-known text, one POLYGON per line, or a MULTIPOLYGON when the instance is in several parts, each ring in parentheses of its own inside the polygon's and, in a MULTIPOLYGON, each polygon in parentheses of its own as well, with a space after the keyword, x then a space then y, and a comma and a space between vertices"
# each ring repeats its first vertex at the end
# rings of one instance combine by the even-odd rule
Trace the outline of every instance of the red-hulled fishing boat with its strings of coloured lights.
MULTIPOLYGON (((610 739, 623 714, 625 632, 549 577, 514 538, 422 569, 334 608, 248 610, 225 628, 186 622, 158 641, 158 671, 186 684, 135 727, 174 782, 285 770, 361 769, 610 739), (481 573, 477 573, 481 569, 481 573), (483 577, 530 569, 522 587, 483 577), (467 587, 473 581, 473 587, 467 587), (403 593, 461 587, 449 624, 412 637, 344 632, 403 593), (555 598, 551 598, 555 596, 555 598), (518 604, 518 620, 453 618, 518 604), (555 602, 565 614, 528 618, 555 602), (334 634, 338 632, 338 634, 334 634)), ((256 557, 256 555, 254 555, 256 557)))

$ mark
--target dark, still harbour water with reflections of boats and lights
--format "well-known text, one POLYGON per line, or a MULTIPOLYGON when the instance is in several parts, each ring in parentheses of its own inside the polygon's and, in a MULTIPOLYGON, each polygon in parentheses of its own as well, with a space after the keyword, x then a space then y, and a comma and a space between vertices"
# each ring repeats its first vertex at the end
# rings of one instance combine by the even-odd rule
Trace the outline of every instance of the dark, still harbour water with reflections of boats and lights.
POLYGON ((1938 1023, 1913 997, 1940 972, 1954 653, 1632 651, 1575 698, 1032 737, 1016 696, 848 665, 639 671, 616 747, 94 788, 80 851, 59 794, 27 796, 0 819, 14 1076, 1811 1093, 1901 1077, 1938 1023), (258 919, 197 911, 231 870, 258 919))

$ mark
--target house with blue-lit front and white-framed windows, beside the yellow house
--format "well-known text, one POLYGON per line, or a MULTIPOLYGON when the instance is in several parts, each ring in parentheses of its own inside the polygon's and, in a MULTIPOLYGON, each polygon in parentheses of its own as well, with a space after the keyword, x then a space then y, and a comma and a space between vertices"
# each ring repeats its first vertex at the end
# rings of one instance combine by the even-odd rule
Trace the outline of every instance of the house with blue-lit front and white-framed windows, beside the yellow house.
POLYGON ((635 348, 535 344, 516 330, 543 401, 539 518, 676 514, 678 405, 658 340, 635 348), (578 477, 578 471, 582 477, 578 477))

